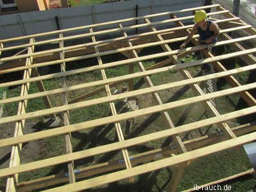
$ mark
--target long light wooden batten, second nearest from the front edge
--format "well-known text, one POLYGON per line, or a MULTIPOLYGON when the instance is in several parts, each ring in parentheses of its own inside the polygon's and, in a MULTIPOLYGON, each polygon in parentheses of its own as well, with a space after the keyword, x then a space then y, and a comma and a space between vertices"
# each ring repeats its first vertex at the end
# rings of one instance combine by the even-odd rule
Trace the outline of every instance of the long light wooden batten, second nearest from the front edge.
MULTIPOLYGON (((212 93, 207 94, 207 95, 211 95, 211 94, 212 93)), ((198 97, 202 97, 202 96, 198 96, 198 97)), ((195 97, 195 99, 198 99, 198 97, 197 98, 195 97)), ((207 99, 209 99, 209 98, 207 98, 207 99)), ((182 101, 184 101, 184 100, 182 100, 182 101)), ((163 107, 163 109, 159 109, 159 111, 166 110, 165 104, 161 105, 161 107, 163 107)), ((154 107, 154 108, 156 108, 156 107, 154 107)), ((235 111, 235 112, 232 112, 232 113, 227 113, 225 115, 220 115, 220 116, 215 116, 215 117, 212 117, 212 118, 207 118, 205 120, 201 120, 201 121, 194 122, 194 123, 191 123, 191 124, 181 125, 181 126, 177 127, 177 129, 166 129, 164 131, 158 131, 158 132, 154 132, 152 134, 146 134, 144 136, 139 136, 139 137, 136 137, 136 138, 125 140, 125 141, 119 141, 119 142, 116 142, 116 143, 111 143, 111 144, 103 145, 103 146, 100 146, 100 147, 90 148, 90 149, 82 150, 82 151, 79 151, 79 152, 73 152, 72 154, 65 154, 65 155, 62 155, 62 156, 51 157, 49 159, 34 161, 32 163, 20 164, 19 166, 14 166, 12 168, 3 168, 3 169, 0 170, 0 177, 6 177, 8 175, 13 175, 15 173, 28 172, 30 170, 35 170, 35 169, 38 169, 38 168, 44 168, 44 167, 52 166, 52 165, 55 165, 55 164, 67 163, 68 161, 83 159, 85 157, 95 156, 97 154, 103 154, 103 153, 106 153, 106 152, 111 152, 113 150, 119 150, 121 148, 127 148, 127 147, 131 147, 131 146, 134 146, 134 145, 139 145, 140 143, 145 143, 145 142, 148 142, 148 141, 157 140, 159 138, 164 138, 166 136, 172 136, 174 134, 180 134, 182 132, 195 130, 195 129, 198 129, 200 127, 204 127, 204 126, 212 125, 212 124, 217 124, 217 123, 224 122, 224 121, 227 121, 227 120, 230 120, 230 119, 233 119, 233 118, 237 118, 239 116, 250 115, 250 114, 255 113, 255 112, 256 112, 256 106, 253 106, 253 107, 246 108, 246 109, 241 109, 239 111, 235 111)), ((130 112, 130 114, 131 113, 132 112, 130 112)), ((125 114, 122 114, 122 115, 123 116, 128 115, 128 113, 125 113, 125 114)), ((110 118, 112 120, 111 122, 118 122, 119 117, 122 116, 122 115, 116 115, 115 120, 113 120, 113 118, 110 118)), ((107 118, 108 117, 106 117, 105 120, 107 118)), ((102 124, 102 121, 100 122, 101 124, 102 124)), ((91 122, 93 122, 93 120, 90 121, 90 122, 86 122, 86 125, 84 125, 84 127, 88 127, 89 125, 91 125, 90 124, 91 122)), ((97 122, 99 122, 99 120, 97 120, 97 122)), ((106 123, 106 121, 104 121, 103 124, 104 123, 106 123)), ((94 120, 93 124, 95 124, 95 120, 94 120)), ((72 126, 72 125, 70 125, 70 126, 72 126)), ((96 125, 91 125, 91 126, 94 127, 96 125)), ((61 133, 63 133, 63 131, 65 131, 65 130, 63 130, 64 129, 63 127, 61 127, 61 128, 62 128, 61 133)), ((78 129, 78 128, 79 127, 76 124, 76 129, 78 129)), ((52 136, 54 135, 54 132, 56 130, 58 130, 58 128, 51 130, 52 136)), ((73 130, 74 129, 72 129, 72 131, 73 130)), ((43 132, 45 133, 47 131, 38 132, 38 133, 41 134, 41 137, 42 136, 45 137, 45 135, 43 135, 43 132)), ((70 132, 70 129, 68 129, 68 132, 70 132)), ((33 133, 33 134, 35 135, 36 133, 33 133)), ((256 134, 256 132, 254 132, 252 134, 252 136, 254 136, 254 138, 251 138, 251 140, 252 139, 255 140, 255 138, 256 138, 255 134, 256 134)), ((19 138, 22 138, 22 137, 24 138, 24 137, 26 137, 26 135, 19 136, 19 138)), ((248 140, 246 140, 246 142, 249 142, 250 141, 250 134, 247 134, 246 137, 241 136, 241 138, 247 138, 247 137, 248 137, 248 140)), ((19 139, 19 138, 17 138, 17 139, 19 139)), ((233 139, 232 141, 236 141, 236 140, 233 139)), ((19 142, 19 143, 22 143, 22 141, 19 142)), ((218 149, 216 149, 216 150, 218 151, 218 149)), ((187 153, 188 152, 186 152, 184 154, 187 154, 187 153)), ((199 157, 199 156, 200 155, 198 155, 197 157, 199 157)), ((179 163, 183 163, 186 160, 187 159, 183 159, 182 161, 179 161, 179 163)), ((132 169, 133 168, 131 168, 129 170, 132 170, 132 169)), ((136 174, 136 175, 138 175, 138 174, 136 174)))

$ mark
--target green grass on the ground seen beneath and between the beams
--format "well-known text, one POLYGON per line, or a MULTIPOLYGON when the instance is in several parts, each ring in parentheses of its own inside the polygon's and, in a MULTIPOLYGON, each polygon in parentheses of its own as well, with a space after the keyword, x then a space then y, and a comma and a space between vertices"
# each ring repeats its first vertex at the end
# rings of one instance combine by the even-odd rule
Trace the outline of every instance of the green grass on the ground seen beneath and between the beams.
MULTIPOLYGON (((155 49, 147 50, 145 52, 141 52, 141 54, 146 54, 146 52, 159 52, 159 48, 155 47, 155 49)), ((115 56, 116 59, 118 55, 115 56)), ((110 58, 104 58, 105 60, 111 60, 110 58)), ((196 58, 190 56, 189 58, 184 58, 186 62, 191 60, 195 60, 196 58)), ((82 61, 81 61, 82 63, 82 61)), ((143 66, 145 68, 150 67, 157 63, 155 60, 148 60, 143 62, 143 66)), ((227 61, 228 63, 228 61, 227 61)), ((77 62, 77 66, 79 66, 79 62, 77 62)), ((236 67, 242 65, 241 63, 237 63, 236 67)), ((128 68, 125 66, 116 67, 116 68, 108 68, 106 69, 106 75, 108 78, 123 76, 127 74, 128 68)), ((196 76, 198 72, 200 72, 200 67, 188 68, 189 72, 191 72, 192 76, 196 76)), ((138 72, 138 66, 134 67, 134 71, 138 72)), ((242 76, 237 76, 237 79, 243 84, 246 83, 249 74, 244 73, 242 76)), ((95 81, 102 79, 100 71, 97 72, 88 72, 84 74, 79 74, 76 76, 67 77, 68 86, 95 81)), ((154 74, 150 76, 154 85, 169 83, 173 81, 179 81, 182 79, 179 72, 176 71, 168 71, 161 74, 154 74)), ((47 90, 51 90, 54 88, 61 87, 61 79, 51 79, 44 81, 45 87, 47 90)), ((122 86, 127 86, 127 83, 122 83, 116 87, 122 88, 122 86)), ((115 88, 116 88, 115 87, 115 88)), ((141 89, 147 87, 147 84, 143 81, 143 78, 134 79, 134 88, 141 89)), ((115 88, 112 88, 115 90, 115 88)), ((229 88, 226 83, 218 83, 218 89, 225 90, 225 88, 229 88)), ((1 91, 1 90, 0 90, 1 91)), ((13 90, 6 90, 7 97, 15 97, 20 93, 20 86, 14 88, 13 90)), ((84 92, 90 92, 92 89, 88 90, 77 90, 74 93, 68 93, 69 99, 74 99, 78 95, 81 95, 84 92)), ((38 92, 35 83, 31 83, 29 93, 38 92)), ((106 95, 106 93, 99 93, 98 95, 94 95, 90 99, 99 98, 106 95)), ((191 88, 189 86, 184 86, 182 88, 173 88, 170 90, 164 90, 159 92, 159 95, 163 99, 163 102, 172 102, 175 100, 186 99, 188 97, 195 96, 191 88)), ((62 95, 52 96, 50 97, 52 106, 57 106, 62 103, 62 95)), ((154 102, 152 101, 151 95, 142 95, 138 97, 138 101, 140 103, 140 108, 146 108, 148 106, 154 106, 154 102)), ((239 103, 239 95, 231 95, 228 97, 223 97, 220 99, 216 99, 216 103, 218 106, 218 110, 221 114, 227 113, 229 111, 235 111, 236 106, 239 103)), ((116 110, 118 113, 124 109, 122 102, 115 102, 116 110)), ((194 106, 180 107, 177 109, 169 110, 169 114, 173 120, 173 124, 182 125, 188 124, 193 121, 202 120, 204 118, 211 117, 211 113, 206 113, 204 115, 205 109, 201 104, 195 104, 194 106), (180 122, 180 118, 184 117, 184 121, 180 122)), ((44 102, 42 99, 34 99, 33 102, 28 102, 27 112, 36 111, 40 109, 44 109, 44 102)), ((17 104, 6 104, 4 109, 8 109, 8 115, 15 115, 17 113, 17 104)), ((89 108, 77 109, 70 111, 70 123, 76 124, 79 122, 84 122, 88 120, 93 120, 95 118, 100 118, 104 116, 110 115, 109 105, 108 104, 99 104, 97 106, 91 106, 89 108)), ((38 119, 36 119, 38 120, 38 119)), ((33 121, 33 120, 31 120, 33 121)), ((239 121, 228 122, 232 125, 239 125, 239 121)), ((131 132, 126 132, 127 122, 120 122, 122 125, 122 131, 124 132, 125 139, 132 138, 135 136, 142 136, 145 134, 149 134, 156 131, 161 131, 166 129, 166 126, 163 123, 163 118, 159 115, 148 115, 138 118, 138 122, 134 125, 131 132)), ((216 126, 212 128, 212 131, 216 129, 216 126)), ((106 145, 108 143, 113 143, 117 141, 115 134, 115 126, 104 125, 100 127, 93 127, 93 129, 83 130, 79 132, 75 132, 72 134, 72 146, 74 152, 83 150, 85 148, 92 148, 99 145, 106 145)), ((197 133, 198 134, 198 133, 197 133)), ((139 147, 131 147, 129 148, 129 154, 134 155, 140 152, 145 152, 147 150, 152 150, 155 148, 159 148, 163 145, 165 138, 157 141, 151 141, 148 143, 144 143, 139 147)), ((45 140, 39 141, 39 145, 42 147, 40 157, 35 157, 36 160, 38 158, 45 159, 52 156, 58 156, 65 153, 65 138, 63 136, 58 136, 54 138, 47 138, 45 140)), ((106 154, 101 154, 99 156, 95 156, 93 158, 82 159, 76 161, 76 168, 80 168, 83 166, 88 166, 90 164, 102 163, 105 161, 109 161, 111 159, 122 158, 122 154, 120 152, 110 153, 109 156, 106 154)), ((33 160, 35 160, 33 159, 33 160)), ((211 182, 213 180, 221 179, 223 177, 228 177, 230 175, 234 175, 239 172, 243 172, 250 168, 250 163, 246 157, 242 148, 235 148, 232 150, 227 150, 224 152, 218 152, 217 154, 212 154, 211 156, 202 157, 196 161, 194 161, 191 165, 186 168, 186 172, 182 177, 182 182, 179 186, 179 191, 183 189, 192 188, 193 184, 205 184, 207 182, 211 182)), ((67 172, 67 166, 56 166, 53 168, 44 168, 40 170, 36 170, 31 173, 22 173, 20 174, 20 182, 22 180, 36 179, 38 177, 44 177, 51 173, 61 173, 67 172)), ((129 184, 127 180, 123 180, 120 182, 115 182, 113 184, 108 185, 108 189, 106 191, 163 191, 168 184, 170 176, 172 174, 172 170, 170 168, 164 168, 162 170, 157 170, 156 172, 146 173, 141 175, 140 177, 136 177, 136 182, 134 184, 129 184)), ((253 184, 255 184, 255 180, 248 178, 243 180, 243 183, 239 182, 239 180, 235 182, 229 183, 232 186, 232 191, 246 191, 249 190, 253 184)))

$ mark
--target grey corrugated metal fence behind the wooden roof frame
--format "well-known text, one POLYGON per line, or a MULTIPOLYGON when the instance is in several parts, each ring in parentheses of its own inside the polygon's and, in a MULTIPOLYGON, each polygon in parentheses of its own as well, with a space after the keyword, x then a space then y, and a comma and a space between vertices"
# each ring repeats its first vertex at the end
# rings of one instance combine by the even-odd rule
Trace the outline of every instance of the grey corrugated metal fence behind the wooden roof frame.
MULTIPOLYGON (((204 0, 133 0, 118 3, 95 4, 92 6, 59 8, 41 12, 2 15, 0 16, 0 38, 5 39, 47 31, 56 31, 58 30, 58 24, 61 29, 67 29, 110 20, 136 17, 136 5, 138 5, 138 16, 141 16, 182 10, 184 8, 202 6, 203 4, 204 0)), ((182 13, 177 16, 184 17, 186 14, 189 13, 182 13)), ((156 17, 152 21, 163 19, 169 18, 168 16, 156 17)), ((135 24, 135 21, 132 22, 125 22, 123 26, 135 24)), ((139 23, 140 22, 142 23, 143 20, 139 21, 139 23)), ((102 26, 99 29, 106 27, 109 28, 109 26, 102 26)))

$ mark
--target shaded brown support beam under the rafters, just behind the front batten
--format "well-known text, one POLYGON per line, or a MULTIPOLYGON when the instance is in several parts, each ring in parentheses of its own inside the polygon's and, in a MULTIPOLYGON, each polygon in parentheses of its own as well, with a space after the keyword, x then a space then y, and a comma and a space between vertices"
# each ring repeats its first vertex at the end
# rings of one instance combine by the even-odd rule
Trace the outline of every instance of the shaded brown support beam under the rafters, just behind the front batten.
MULTIPOLYGON (((248 134, 249 132, 256 131, 255 124, 244 124, 239 125, 237 127, 232 128, 232 131, 236 134, 236 136, 241 136, 242 134, 248 134)), ((209 143, 215 144, 221 141, 221 137, 218 134, 209 134, 207 136, 202 136, 200 138, 196 138, 195 140, 184 141, 184 145, 188 150, 195 150, 200 147, 207 147, 209 143)), ((136 154, 132 156, 132 166, 135 166, 138 163, 145 163, 146 161, 156 161, 159 159, 163 159, 166 156, 164 154, 168 154, 169 157, 171 154, 177 154, 179 150, 177 148, 163 147, 157 148, 155 150, 150 150, 148 152, 143 152, 140 154, 136 154)), ((92 175, 96 175, 99 173, 109 172, 113 170, 117 170, 118 168, 124 168, 125 164, 120 163, 121 159, 108 161, 105 163, 100 163, 92 166, 87 166, 84 168, 80 168, 81 173, 76 175, 77 179, 81 179, 84 177, 90 177, 92 175)), ((18 184, 18 189, 20 192, 31 191, 35 189, 40 189, 44 187, 53 186, 56 184, 60 184, 63 182, 67 182, 68 178, 63 174, 59 175, 50 175, 47 177, 43 177, 41 179, 29 180, 26 182, 20 182, 18 184)))

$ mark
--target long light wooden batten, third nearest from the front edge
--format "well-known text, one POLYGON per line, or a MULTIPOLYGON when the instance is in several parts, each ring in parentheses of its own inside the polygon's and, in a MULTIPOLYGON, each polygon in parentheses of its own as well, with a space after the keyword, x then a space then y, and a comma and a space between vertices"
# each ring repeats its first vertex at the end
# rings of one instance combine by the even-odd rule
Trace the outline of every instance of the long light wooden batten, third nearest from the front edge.
MULTIPOLYGON (((113 118, 111 116, 108 116, 108 117, 100 118, 100 120, 99 119, 90 120, 88 122, 83 122, 83 123, 64 126, 64 127, 58 127, 58 128, 51 129, 51 130, 33 132, 31 134, 26 134, 26 135, 23 135, 23 136, 19 136, 17 138, 7 138, 7 139, 4 139, 4 140, 0 140, 0 147, 15 145, 17 143, 25 143, 25 142, 29 142, 29 141, 40 140, 42 138, 49 138, 49 137, 52 137, 52 136, 58 136, 60 134, 65 134, 67 132, 74 132, 74 131, 80 131, 80 130, 83 130, 83 129, 90 129, 92 127, 97 127, 97 126, 100 126, 100 125, 106 125, 106 124, 111 124, 111 123, 114 123, 114 122, 120 122, 122 120, 127 120, 127 119, 130 119, 130 118, 134 118, 136 116, 149 115, 149 114, 152 114, 152 113, 157 113, 157 112, 160 112, 160 111, 166 111, 168 109, 177 108, 177 107, 180 107, 180 106, 186 106, 186 105, 189 105, 189 104, 194 104, 196 102, 202 102, 202 101, 205 101, 205 100, 214 99, 216 97, 223 97, 225 95, 230 95, 230 94, 234 94, 234 93, 238 93, 238 92, 243 92, 244 90, 253 89, 255 87, 255 84, 256 83, 246 84, 246 85, 243 85, 243 86, 230 88, 230 89, 222 90, 222 91, 219 91, 219 92, 209 93, 209 94, 206 94, 206 95, 200 95, 200 96, 196 96, 196 97, 189 98, 189 99, 177 100, 175 102, 161 104, 161 105, 158 105, 158 106, 153 106, 153 107, 145 108, 145 109, 138 109, 137 111, 131 111, 131 112, 116 115, 115 118, 113 118)), ((253 109, 253 108, 250 108, 250 109, 253 109)), ((253 111, 250 111, 250 113, 253 113, 253 111)), ((241 116, 243 116, 243 114, 241 116)), ((212 123, 212 124, 214 124, 214 123, 212 123)))

